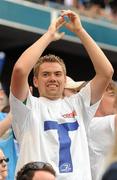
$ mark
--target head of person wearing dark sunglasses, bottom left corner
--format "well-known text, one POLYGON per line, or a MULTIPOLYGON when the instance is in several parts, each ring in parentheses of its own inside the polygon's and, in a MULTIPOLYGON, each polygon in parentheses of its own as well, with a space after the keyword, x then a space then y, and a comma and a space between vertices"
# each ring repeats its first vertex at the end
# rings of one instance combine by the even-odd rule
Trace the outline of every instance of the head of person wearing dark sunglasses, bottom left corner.
POLYGON ((7 172, 8 161, 9 159, 5 157, 2 149, 0 148, 0 180, 6 180, 6 177, 8 175, 7 172))

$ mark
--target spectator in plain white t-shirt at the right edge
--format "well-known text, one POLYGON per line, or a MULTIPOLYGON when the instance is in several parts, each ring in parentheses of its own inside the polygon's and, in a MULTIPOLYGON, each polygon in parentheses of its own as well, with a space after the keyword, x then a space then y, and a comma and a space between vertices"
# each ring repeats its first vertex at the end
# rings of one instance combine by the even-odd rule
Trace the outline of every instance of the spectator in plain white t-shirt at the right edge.
POLYGON ((99 179, 105 157, 113 144, 117 130, 116 91, 117 85, 111 81, 106 88, 95 117, 88 125, 87 136, 92 180, 99 179))

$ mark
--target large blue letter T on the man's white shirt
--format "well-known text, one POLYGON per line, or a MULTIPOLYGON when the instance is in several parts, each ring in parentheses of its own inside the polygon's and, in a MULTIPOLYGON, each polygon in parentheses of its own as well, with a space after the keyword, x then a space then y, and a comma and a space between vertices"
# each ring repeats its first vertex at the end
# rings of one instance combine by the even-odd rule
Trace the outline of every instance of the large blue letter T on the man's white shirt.
POLYGON ((70 153, 71 139, 69 137, 69 131, 75 131, 79 127, 77 121, 72 123, 58 124, 55 121, 45 121, 44 130, 58 130, 58 139, 60 142, 59 148, 59 171, 60 173, 68 173, 73 171, 73 164, 70 153))

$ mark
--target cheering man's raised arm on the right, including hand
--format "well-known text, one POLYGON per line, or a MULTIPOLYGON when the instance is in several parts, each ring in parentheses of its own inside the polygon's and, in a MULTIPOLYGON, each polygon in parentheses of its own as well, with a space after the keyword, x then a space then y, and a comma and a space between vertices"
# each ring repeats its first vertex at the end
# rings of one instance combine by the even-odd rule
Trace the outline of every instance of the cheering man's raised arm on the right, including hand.
POLYGON ((61 16, 69 18, 65 26, 80 38, 93 63, 96 72, 95 77, 91 81, 91 104, 93 104, 101 98, 112 78, 112 65, 99 46, 82 27, 78 14, 70 10, 63 10, 61 16))

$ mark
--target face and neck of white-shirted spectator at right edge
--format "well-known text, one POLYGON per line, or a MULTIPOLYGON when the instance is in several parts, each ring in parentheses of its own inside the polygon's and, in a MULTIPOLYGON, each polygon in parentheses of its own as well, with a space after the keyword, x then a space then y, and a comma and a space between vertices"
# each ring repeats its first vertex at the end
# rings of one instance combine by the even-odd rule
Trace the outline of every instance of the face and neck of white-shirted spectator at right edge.
POLYGON ((112 80, 104 92, 95 116, 115 114, 116 91, 117 84, 112 80))

